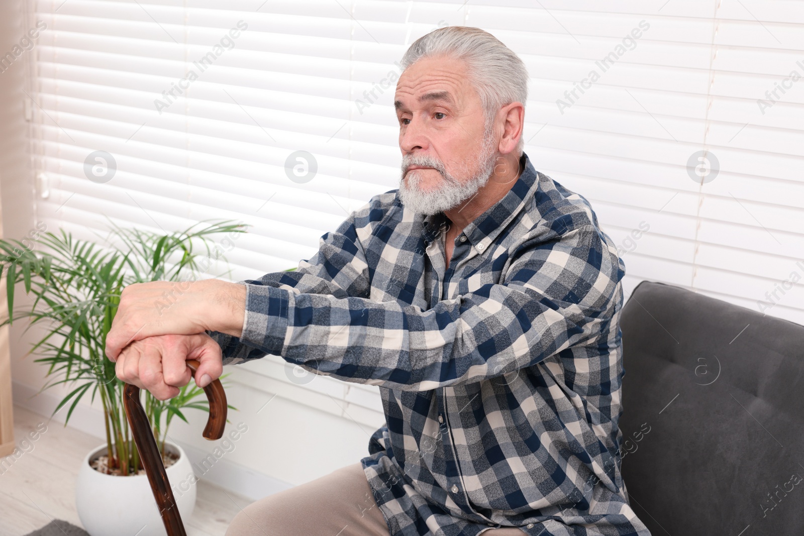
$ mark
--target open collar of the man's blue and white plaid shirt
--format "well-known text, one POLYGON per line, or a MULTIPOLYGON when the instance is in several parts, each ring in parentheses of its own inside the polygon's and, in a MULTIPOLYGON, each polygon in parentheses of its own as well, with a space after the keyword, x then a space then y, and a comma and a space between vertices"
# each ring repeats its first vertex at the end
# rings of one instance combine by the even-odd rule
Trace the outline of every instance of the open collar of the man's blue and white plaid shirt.
MULTIPOLYGON (((519 174, 511 190, 503 195, 497 203, 494 203, 482 215, 472 220, 469 225, 464 227, 463 234, 469 242, 478 250, 483 252, 489 247, 490 243, 507 227, 507 224, 523 211, 527 201, 535 197, 536 190, 539 188, 539 176, 531 164, 530 158, 526 153, 522 153, 519 158, 519 166, 522 173, 519 174)), ((439 230, 447 223, 447 217, 443 212, 437 215, 425 216, 422 238, 425 243, 431 243, 437 239, 439 230)))

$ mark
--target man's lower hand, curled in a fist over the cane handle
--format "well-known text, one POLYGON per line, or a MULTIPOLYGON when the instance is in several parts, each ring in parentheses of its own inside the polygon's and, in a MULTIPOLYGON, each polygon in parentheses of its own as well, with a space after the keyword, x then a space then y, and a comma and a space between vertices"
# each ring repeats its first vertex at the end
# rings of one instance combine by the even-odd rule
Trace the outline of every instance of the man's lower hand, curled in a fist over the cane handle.
POLYGON ((132 342, 117 356, 117 378, 150 391, 159 400, 172 399, 190 383, 187 359, 200 363, 195 384, 206 387, 224 372, 220 346, 207 333, 161 335, 132 342))

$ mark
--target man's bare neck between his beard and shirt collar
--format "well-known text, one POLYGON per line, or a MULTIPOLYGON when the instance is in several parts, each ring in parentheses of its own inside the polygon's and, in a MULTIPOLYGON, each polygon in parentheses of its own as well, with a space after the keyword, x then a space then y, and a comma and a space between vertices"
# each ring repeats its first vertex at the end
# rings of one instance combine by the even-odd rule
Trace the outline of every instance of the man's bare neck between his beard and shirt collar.
POLYGON ((464 227, 505 197, 505 194, 508 193, 508 190, 511 190, 520 174, 522 174, 522 170, 519 169, 519 158, 515 153, 498 157, 497 165, 494 166, 494 174, 478 190, 478 193, 459 206, 444 212, 452 222, 446 238, 455 239, 463 231, 464 227))

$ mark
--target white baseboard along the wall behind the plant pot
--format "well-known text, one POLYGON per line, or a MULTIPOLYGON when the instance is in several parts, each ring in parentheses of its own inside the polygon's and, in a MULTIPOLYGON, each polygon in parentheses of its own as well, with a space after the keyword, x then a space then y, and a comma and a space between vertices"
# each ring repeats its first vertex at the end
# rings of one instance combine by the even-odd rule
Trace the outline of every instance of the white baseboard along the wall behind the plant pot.
MULTIPOLYGON (((40 392, 22 383, 13 382, 12 391, 14 393, 14 404, 24 407, 28 411, 33 411, 45 418, 64 424, 64 417, 67 415, 68 405, 65 405, 51 417, 55 407, 59 405, 60 399, 47 391, 40 392)), ((105 428, 103 411, 96 407, 87 407, 78 404, 70 415, 68 426, 90 436, 98 438, 99 443, 105 441, 105 428)), ((177 441, 178 444, 187 452, 191 463, 199 480, 207 481, 217 485, 232 493, 238 493, 256 501, 261 497, 266 497, 272 493, 277 493, 283 489, 293 487, 285 481, 270 477, 264 473, 258 473, 243 465, 232 463, 232 461, 221 458, 214 466, 205 473, 199 474, 200 461, 207 457, 209 452, 191 444, 177 441)), ((171 482, 171 484, 173 484, 171 482)))

